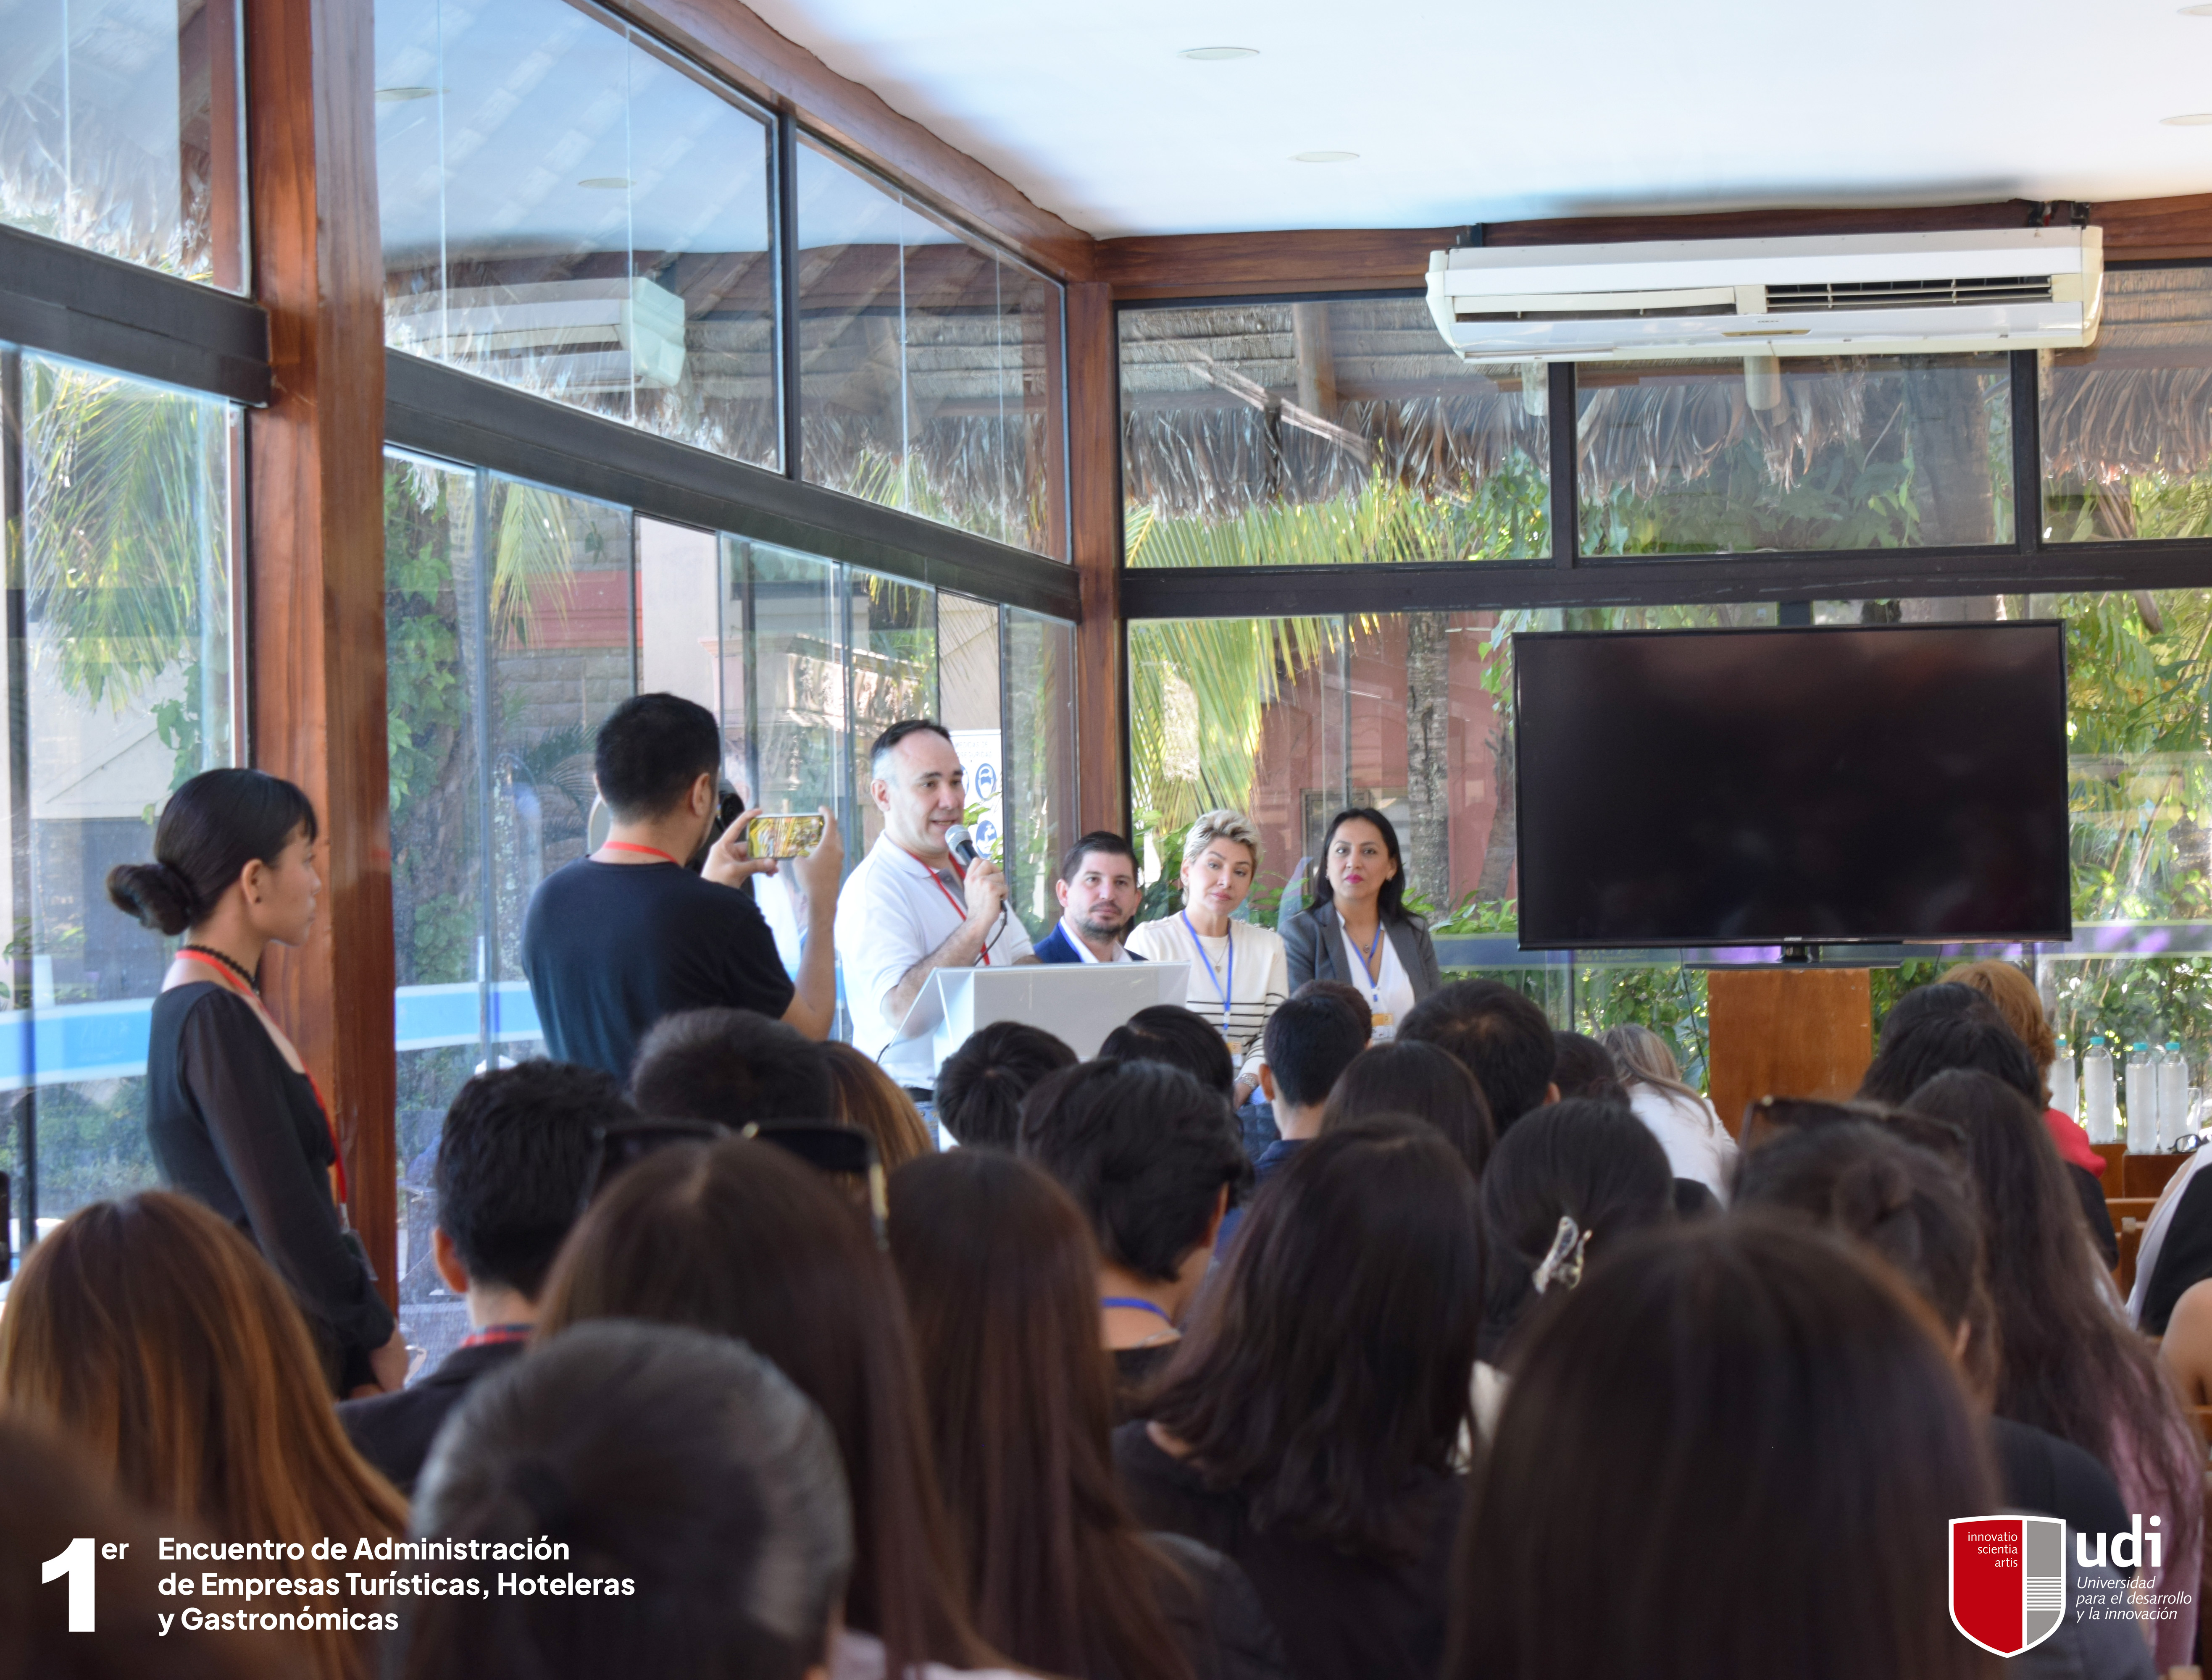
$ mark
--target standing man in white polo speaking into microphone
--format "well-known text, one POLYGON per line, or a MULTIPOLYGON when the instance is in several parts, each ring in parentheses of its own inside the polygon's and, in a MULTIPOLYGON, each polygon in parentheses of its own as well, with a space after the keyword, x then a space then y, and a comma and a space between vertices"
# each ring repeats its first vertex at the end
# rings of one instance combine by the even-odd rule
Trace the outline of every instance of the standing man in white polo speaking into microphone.
POLYGON ((869 796, 883 836, 852 871, 836 906, 852 1041, 927 1101, 929 1039, 894 1039, 938 968, 1035 962, 1029 931, 1006 904, 1006 878, 975 853, 960 825, 967 778, 942 723, 894 723, 869 747, 869 796))

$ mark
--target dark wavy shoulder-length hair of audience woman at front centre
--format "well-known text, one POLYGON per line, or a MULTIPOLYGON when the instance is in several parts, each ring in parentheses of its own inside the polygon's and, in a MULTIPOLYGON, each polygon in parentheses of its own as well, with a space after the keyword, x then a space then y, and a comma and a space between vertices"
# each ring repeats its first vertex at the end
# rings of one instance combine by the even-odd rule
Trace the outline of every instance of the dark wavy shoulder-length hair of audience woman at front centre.
POLYGON ((1245 1499, 1254 1527, 1418 1556, 1402 1497, 1449 1472, 1469 1426, 1480 1302, 1458 1152, 1418 1121, 1347 1125, 1267 1180, 1152 1424, 1245 1499))

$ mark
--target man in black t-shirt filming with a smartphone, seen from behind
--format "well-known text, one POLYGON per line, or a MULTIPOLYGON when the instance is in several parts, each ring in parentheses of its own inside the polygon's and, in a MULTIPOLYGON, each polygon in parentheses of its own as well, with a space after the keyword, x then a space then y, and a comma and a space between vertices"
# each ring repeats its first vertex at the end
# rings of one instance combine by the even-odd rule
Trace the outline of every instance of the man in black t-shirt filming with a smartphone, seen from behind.
POLYGON ((743 1008, 787 1021, 810 1039, 836 1019, 838 875, 845 842, 823 811, 823 838, 785 860, 799 926, 796 981, 776 937, 743 891, 776 875, 752 858, 741 813, 695 875, 684 864, 706 844, 721 787, 721 725, 677 694, 637 694, 599 725, 593 778, 615 822, 588 858, 553 871, 522 920, 522 970, 544 1023, 546 1050, 628 1081, 653 1023, 695 1008, 743 1008))

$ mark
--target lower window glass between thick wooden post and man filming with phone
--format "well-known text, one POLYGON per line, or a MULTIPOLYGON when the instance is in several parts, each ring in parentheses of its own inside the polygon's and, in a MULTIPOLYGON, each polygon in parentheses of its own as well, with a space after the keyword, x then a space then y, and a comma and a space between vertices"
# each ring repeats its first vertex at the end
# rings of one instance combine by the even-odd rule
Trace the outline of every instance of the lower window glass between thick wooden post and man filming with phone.
POLYGON ((630 601, 622 508, 387 455, 400 1320, 434 1357, 467 1333, 429 1260, 438 1130, 471 1072, 542 1052, 522 911, 584 855, 593 734, 635 683, 630 601))

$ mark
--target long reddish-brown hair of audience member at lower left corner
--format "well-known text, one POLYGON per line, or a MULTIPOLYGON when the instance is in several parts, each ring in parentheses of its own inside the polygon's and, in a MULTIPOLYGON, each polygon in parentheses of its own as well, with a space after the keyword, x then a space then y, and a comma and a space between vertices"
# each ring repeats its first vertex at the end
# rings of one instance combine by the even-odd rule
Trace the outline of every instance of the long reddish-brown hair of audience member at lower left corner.
MULTIPOLYGON (((0 1410, 219 1541, 407 1527, 338 1428, 290 1291, 228 1220, 170 1191, 80 1207, 31 1249, 0 1313, 0 1410)), ((361 1634, 301 1638, 321 1680, 358 1667, 361 1634)))

